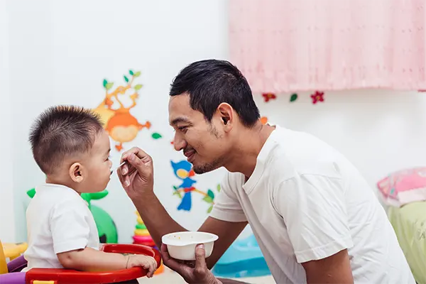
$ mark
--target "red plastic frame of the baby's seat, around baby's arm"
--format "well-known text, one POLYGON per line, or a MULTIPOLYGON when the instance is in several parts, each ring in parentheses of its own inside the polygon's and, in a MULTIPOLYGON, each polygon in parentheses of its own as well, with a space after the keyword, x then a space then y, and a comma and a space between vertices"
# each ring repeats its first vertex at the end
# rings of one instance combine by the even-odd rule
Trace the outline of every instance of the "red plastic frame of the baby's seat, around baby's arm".
MULTIPOLYGON (((153 256, 160 267, 161 256, 158 250, 140 244, 104 244, 101 251, 107 253, 133 253, 153 256)), ((121 281, 141 278, 148 271, 141 267, 123 269, 121 271, 85 272, 69 269, 33 268, 26 272, 26 283, 32 284, 34 280, 54 281, 55 284, 97 284, 116 283, 121 281)))

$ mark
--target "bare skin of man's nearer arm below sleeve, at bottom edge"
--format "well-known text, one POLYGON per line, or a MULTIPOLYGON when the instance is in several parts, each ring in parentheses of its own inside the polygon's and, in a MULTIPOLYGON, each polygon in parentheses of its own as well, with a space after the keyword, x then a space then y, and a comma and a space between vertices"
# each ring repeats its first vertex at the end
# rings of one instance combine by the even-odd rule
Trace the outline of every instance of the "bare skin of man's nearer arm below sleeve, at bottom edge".
POLYGON ((320 259, 302 263, 307 284, 353 284, 351 264, 346 249, 320 259))

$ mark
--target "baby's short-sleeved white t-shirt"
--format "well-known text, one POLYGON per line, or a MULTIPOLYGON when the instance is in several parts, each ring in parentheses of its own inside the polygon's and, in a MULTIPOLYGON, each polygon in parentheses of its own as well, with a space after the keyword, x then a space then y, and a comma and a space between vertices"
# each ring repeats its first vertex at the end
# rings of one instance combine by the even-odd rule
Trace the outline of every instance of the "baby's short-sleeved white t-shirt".
POLYGON ((45 184, 35 188, 26 211, 31 268, 63 268, 57 253, 90 247, 99 249, 99 236, 92 212, 70 187, 45 184))

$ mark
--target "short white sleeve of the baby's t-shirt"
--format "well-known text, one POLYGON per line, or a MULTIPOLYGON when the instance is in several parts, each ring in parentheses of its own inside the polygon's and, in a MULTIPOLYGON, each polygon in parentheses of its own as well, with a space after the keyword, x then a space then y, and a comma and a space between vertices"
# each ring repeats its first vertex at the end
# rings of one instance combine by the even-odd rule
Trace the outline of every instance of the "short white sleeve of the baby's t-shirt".
POLYGON ((89 242, 87 208, 80 200, 67 200, 57 204, 50 215, 50 231, 55 253, 86 248, 89 242))

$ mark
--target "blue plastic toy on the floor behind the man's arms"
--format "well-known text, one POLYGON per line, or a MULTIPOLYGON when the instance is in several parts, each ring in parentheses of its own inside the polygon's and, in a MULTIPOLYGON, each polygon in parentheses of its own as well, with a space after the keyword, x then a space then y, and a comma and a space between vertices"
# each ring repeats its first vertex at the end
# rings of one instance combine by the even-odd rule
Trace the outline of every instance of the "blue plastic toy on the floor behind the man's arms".
POLYGON ((217 277, 243 278, 271 275, 256 238, 237 239, 213 267, 217 277))

